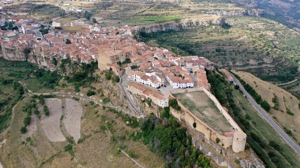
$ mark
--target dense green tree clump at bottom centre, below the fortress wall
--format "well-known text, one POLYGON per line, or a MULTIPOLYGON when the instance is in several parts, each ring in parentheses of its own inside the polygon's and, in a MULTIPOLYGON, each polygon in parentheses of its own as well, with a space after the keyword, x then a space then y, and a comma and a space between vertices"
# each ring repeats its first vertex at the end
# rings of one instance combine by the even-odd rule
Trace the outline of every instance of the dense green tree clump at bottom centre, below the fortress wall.
MULTIPOLYGON (((169 107, 164 109, 169 113, 169 107)), ((165 168, 211 168, 209 161, 201 152, 192 147, 191 136, 186 134, 186 128, 179 127, 176 119, 169 114, 162 120, 150 115, 142 122, 142 141, 155 154, 166 161, 165 168)))

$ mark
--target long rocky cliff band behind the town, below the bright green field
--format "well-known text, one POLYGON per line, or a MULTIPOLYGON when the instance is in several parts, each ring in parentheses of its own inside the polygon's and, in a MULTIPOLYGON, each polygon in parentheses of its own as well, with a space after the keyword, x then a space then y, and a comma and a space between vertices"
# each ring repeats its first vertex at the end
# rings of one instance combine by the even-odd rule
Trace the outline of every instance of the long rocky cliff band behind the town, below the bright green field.
POLYGON ((217 17, 212 19, 201 19, 201 18, 183 18, 180 22, 172 22, 172 23, 164 23, 158 25, 148 25, 141 27, 139 30, 142 32, 150 33, 157 31, 166 31, 166 30, 180 30, 180 29, 189 29, 194 28, 196 26, 209 26, 211 24, 214 25, 222 25, 225 23, 224 17, 217 17))

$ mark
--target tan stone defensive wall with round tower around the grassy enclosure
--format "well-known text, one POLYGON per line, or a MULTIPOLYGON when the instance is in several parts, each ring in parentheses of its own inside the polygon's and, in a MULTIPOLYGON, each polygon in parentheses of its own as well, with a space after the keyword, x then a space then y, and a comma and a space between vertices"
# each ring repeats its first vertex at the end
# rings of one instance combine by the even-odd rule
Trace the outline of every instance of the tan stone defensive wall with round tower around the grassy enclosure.
POLYGON ((239 128, 239 126, 234 122, 231 116, 228 114, 227 110, 219 103, 219 101, 215 98, 215 96, 209 92, 207 89, 201 88, 188 88, 188 89, 177 89, 169 91, 169 96, 171 98, 175 97, 173 94, 177 93, 188 93, 188 92, 204 92, 215 104, 217 109, 220 113, 226 118, 227 122, 234 128, 234 132, 224 133, 224 135, 219 134, 217 131, 212 129, 209 125, 195 116, 191 111, 189 111, 180 101, 177 100, 178 105, 182 109, 184 113, 180 113, 171 109, 171 114, 177 118, 180 122, 182 120, 185 121, 188 127, 193 128, 193 123, 196 123, 196 127, 193 128, 194 130, 202 133, 205 137, 205 141, 208 142, 209 140, 216 142, 216 138, 220 141, 218 144, 222 145, 224 148, 228 148, 232 146, 232 150, 235 153, 240 151, 244 151, 245 142, 246 142, 246 134, 239 128))

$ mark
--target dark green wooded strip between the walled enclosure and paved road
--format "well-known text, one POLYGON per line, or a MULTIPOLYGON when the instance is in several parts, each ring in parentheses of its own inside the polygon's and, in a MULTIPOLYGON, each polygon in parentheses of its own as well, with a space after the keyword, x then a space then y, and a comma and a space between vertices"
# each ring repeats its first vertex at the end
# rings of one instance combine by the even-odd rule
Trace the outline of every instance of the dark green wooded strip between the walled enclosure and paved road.
POLYGON ((229 110, 228 113, 247 135, 247 143, 266 167, 285 168, 289 167, 289 164, 295 167, 294 161, 282 153, 280 148, 277 147, 278 144, 272 144, 275 148, 268 146, 268 142, 265 140, 266 137, 258 135, 259 132, 255 129, 255 121, 251 121, 251 118, 241 110, 238 102, 234 100, 230 84, 224 77, 214 72, 206 71, 206 73, 207 80, 211 84, 210 91, 221 105, 229 110))

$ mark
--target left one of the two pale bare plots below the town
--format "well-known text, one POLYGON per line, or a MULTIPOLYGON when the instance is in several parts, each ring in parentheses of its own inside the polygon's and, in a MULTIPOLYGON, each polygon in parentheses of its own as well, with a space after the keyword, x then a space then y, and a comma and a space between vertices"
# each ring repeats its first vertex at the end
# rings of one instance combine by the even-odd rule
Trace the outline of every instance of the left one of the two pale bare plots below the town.
POLYGON ((62 115, 61 100, 50 98, 45 99, 45 105, 48 107, 49 116, 45 116, 43 107, 38 103, 37 107, 41 112, 40 124, 46 137, 51 142, 65 141, 60 131, 60 117, 62 115))

